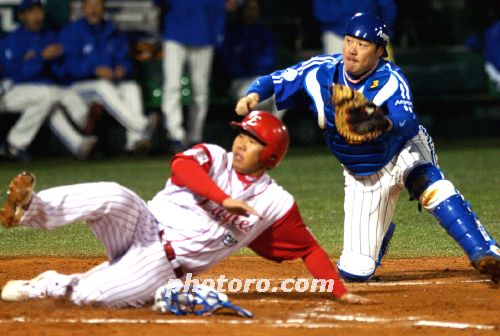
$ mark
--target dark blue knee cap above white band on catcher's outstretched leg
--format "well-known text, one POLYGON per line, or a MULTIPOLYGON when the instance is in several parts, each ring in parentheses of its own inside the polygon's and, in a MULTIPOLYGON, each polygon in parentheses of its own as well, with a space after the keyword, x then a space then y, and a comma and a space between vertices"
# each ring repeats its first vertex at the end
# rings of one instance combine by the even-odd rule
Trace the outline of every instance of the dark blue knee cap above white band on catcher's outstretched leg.
POLYGON ((413 168, 405 180, 412 200, 419 200, 423 192, 433 183, 443 180, 443 174, 432 163, 424 163, 413 168))

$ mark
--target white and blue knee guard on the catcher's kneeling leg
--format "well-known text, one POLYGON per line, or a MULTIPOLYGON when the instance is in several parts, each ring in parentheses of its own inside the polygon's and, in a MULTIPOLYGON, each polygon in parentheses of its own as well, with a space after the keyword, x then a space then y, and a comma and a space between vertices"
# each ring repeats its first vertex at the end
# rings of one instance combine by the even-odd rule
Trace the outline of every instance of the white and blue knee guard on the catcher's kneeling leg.
POLYGON ((368 281, 375 274, 375 260, 359 253, 342 253, 337 263, 340 276, 347 281, 368 281))

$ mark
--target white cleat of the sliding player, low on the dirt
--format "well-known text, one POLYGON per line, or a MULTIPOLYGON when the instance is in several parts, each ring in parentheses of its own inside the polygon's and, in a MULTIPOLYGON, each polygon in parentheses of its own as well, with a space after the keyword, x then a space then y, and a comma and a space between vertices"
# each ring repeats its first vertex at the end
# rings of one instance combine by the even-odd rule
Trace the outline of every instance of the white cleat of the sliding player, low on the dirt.
POLYGON ((10 280, 2 288, 3 301, 25 301, 47 297, 47 286, 44 280, 57 274, 56 271, 46 271, 31 280, 10 280))

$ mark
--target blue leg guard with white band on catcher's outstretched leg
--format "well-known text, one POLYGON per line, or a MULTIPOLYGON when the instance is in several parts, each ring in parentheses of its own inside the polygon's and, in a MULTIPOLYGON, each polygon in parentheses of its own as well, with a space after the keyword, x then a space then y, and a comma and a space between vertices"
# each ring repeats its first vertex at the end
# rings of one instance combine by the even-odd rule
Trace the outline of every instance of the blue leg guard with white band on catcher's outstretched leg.
POLYGON ((479 222, 469 202, 453 184, 445 180, 439 168, 423 164, 413 169, 405 182, 413 199, 427 209, 450 236, 462 247, 471 262, 485 253, 496 242, 479 222))

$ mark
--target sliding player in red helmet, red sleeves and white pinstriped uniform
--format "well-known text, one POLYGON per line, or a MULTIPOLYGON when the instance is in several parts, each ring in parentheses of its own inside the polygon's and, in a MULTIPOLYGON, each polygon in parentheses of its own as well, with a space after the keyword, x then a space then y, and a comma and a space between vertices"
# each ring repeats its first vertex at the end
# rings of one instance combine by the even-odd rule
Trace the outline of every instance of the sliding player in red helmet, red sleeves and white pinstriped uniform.
POLYGON ((171 177, 147 203, 113 182, 35 192, 32 174, 14 177, 0 210, 4 227, 54 229, 84 221, 108 261, 81 274, 47 271, 11 280, 2 299, 66 297, 75 304, 139 307, 170 279, 199 274, 248 246, 276 262, 302 258, 315 278, 334 280, 336 300, 373 302, 347 292, 293 196, 266 173, 288 150, 285 125, 261 111, 231 125, 238 131, 231 152, 199 144, 175 155, 171 177))

